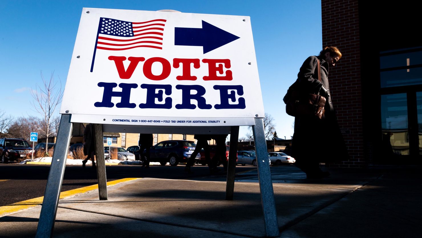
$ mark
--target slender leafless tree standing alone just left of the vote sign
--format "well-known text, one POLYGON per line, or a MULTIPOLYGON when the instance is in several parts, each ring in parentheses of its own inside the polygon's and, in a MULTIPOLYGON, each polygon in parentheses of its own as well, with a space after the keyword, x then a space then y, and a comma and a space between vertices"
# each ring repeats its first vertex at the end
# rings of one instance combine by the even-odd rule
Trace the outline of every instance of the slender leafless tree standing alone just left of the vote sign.
MULTIPOLYGON (((51 130, 51 128, 55 127, 56 109, 58 109, 57 106, 60 105, 63 97, 62 83, 60 80, 55 82, 53 74, 54 71, 51 72, 50 79, 47 80, 41 72, 43 84, 41 86, 36 84, 35 90, 31 90, 31 95, 34 98, 31 105, 34 107, 35 112, 41 115, 41 120, 37 127, 41 134, 46 137, 47 144, 49 137, 57 132, 55 129, 51 130)), ((48 148, 48 145, 46 145, 46 148, 48 148)))

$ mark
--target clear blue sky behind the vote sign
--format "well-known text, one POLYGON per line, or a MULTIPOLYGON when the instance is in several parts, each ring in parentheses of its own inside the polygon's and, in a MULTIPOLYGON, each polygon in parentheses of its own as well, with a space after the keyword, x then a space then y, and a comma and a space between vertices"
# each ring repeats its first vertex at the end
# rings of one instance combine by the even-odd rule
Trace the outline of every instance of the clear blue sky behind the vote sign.
MULTIPOLYGON (((64 89, 83 7, 250 16, 265 112, 275 119, 279 137, 293 135, 294 118, 282 101, 309 55, 322 48, 318 0, 2 0, 0 5, 0 106, 14 117, 37 115, 30 90, 42 83, 40 72, 61 79, 64 89)), ((241 127, 239 137, 246 134, 241 127)))

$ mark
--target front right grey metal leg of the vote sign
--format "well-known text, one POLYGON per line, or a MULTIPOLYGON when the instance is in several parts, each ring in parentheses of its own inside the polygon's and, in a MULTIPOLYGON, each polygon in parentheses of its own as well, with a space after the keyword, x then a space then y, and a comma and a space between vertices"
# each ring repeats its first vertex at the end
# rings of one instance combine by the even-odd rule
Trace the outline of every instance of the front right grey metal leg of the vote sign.
POLYGON ((279 222, 277 220, 276 204, 274 202, 273 181, 271 180, 267 142, 265 141, 262 118, 255 118, 255 126, 252 126, 252 131, 254 133, 255 152, 257 156, 265 233, 269 237, 279 236, 279 222))

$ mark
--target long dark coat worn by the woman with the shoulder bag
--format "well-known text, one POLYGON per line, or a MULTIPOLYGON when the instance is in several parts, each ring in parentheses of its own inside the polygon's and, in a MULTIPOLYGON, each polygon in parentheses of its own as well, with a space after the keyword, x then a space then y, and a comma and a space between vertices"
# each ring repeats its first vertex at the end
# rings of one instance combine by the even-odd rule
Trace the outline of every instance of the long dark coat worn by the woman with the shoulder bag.
MULTIPOLYGON (((310 56, 302 67, 297 87, 304 93, 318 93, 322 86, 329 91, 329 64, 320 57, 310 56), (318 80, 317 60, 320 60, 321 81, 318 80)), ((346 145, 335 117, 331 96, 325 104, 325 115, 316 117, 295 117, 295 132, 292 140, 292 157, 318 162, 344 161, 348 159, 346 145)))

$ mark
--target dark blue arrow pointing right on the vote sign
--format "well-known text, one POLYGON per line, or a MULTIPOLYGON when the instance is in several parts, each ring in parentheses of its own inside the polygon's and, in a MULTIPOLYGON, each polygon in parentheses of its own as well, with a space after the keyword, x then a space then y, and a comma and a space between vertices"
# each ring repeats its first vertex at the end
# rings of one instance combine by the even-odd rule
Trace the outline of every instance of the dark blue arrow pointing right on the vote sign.
POLYGON ((174 44, 178 46, 202 46, 204 54, 224 46, 238 36, 228 33, 208 22, 202 21, 202 28, 174 27, 174 44))

